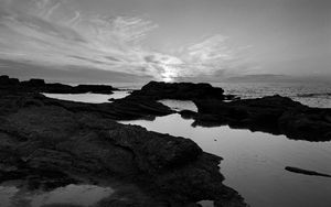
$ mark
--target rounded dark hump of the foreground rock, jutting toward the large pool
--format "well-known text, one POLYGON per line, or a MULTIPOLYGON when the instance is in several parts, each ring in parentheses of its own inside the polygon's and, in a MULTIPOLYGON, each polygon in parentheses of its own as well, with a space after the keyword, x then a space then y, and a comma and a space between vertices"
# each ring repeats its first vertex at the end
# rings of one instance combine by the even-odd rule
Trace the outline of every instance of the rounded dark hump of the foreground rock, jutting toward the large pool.
POLYGON ((131 149, 139 161, 140 170, 154 173, 175 167, 196 160, 202 153, 202 150, 189 139, 146 132, 143 128, 132 126, 109 131, 110 139, 116 145, 131 149), (146 161, 149 163, 148 166, 146 161))

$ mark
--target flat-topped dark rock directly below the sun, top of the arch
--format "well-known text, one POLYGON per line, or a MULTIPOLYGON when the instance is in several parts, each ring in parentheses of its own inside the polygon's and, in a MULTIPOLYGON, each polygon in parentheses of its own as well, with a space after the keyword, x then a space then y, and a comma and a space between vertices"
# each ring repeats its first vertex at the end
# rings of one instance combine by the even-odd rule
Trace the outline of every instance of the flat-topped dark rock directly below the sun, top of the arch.
POLYGON ((223 92, 224 90, 222 88, 213 87, 210 84, 150 81, 140 90, 132 91, 127 98, 145 98, 152 100, 194 100, 215 98, 223 100, 223 92))

